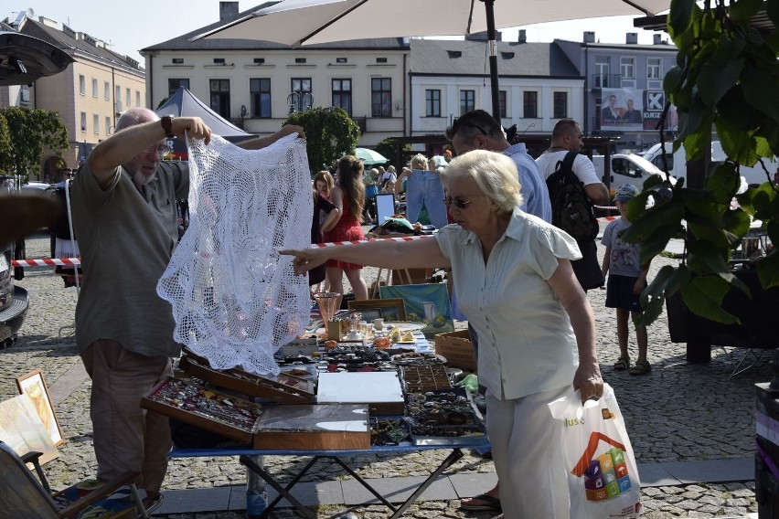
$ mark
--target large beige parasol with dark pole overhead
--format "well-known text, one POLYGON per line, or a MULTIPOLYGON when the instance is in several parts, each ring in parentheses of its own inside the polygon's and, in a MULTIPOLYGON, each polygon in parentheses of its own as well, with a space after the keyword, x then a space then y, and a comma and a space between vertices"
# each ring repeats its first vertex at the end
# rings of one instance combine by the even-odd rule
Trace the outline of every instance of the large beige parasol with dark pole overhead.
POLYGON ((261 39, 298 47, 378 37, 467 36, 486 30, 492 108, 499 121, 496 28, 596 16, 651 16, 669 7, 670 0, 281 0, 192 39, 261 39))

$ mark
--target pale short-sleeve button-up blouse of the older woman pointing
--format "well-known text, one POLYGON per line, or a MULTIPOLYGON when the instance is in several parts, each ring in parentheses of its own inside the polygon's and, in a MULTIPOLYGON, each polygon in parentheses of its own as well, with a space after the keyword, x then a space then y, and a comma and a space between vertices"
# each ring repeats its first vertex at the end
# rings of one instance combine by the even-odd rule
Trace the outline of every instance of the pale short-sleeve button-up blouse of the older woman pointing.
POLYGON ((479 383, 502 399, 571 384, 576 338, 547 280, 558 259, 582 258, 576 241, 518 208, 486 264, 475 233, 450 225, 436 239, 452 264, 460 309, 479 337, 479 383))

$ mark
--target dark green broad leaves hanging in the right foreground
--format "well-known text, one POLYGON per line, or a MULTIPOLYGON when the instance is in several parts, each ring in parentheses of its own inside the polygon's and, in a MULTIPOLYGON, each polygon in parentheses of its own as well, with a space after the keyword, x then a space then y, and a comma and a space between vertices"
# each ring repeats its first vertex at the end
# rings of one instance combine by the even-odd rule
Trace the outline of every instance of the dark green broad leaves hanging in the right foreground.
MULTIPOLYGON (((768 15, 779 26, 779 2, 769 0, 768 15)), ((779 243, 779 197, 763 159, 779 155, 779 32, 760 34, 749 20, 763 0, 672 0, 668 33, 678 48, 677 65, 664 79, 670 103, 676 105, 679 127, 674 150, 683 143, 688 160, 703 156, 716 129, 728 157, 710 167, 703 188, 684 182, 671 185, 648 181, 628 211, 634 225, 625 233, 641 242, 646 264, 670 238, 684 237, 687 222, 688 258, 677 268, 665 267, 642 295, 643 323, 662 311, 666 297, 677 292, 688 308, 720 323, 738 323, 722 309, 731 286, 749 293, 731 272, 732 250, 750 229, 752 219, 763 221, 768 236, 779 243), (736 195, 742 164, 762 164, 766 182, 736 195), (649 196, 654 207, 646 208, 649 196), (740 207, 731 207, 736 197, 740 207)), ((662 122, 661 122, 662 123, 662 122)), ((661 131, 661 142, 662 139, 661 131)), ((776 249, 758 263, 763 287, 779 286, 776 249)))

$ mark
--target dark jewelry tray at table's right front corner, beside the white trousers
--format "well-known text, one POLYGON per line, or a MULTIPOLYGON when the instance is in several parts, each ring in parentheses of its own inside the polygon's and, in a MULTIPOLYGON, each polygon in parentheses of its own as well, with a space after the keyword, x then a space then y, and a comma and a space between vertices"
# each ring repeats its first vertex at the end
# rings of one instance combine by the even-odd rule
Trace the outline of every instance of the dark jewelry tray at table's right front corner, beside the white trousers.
POLYGON ((407 394, 406 417, 414 445, 475 445, 486 428, 463 387, 407 394))

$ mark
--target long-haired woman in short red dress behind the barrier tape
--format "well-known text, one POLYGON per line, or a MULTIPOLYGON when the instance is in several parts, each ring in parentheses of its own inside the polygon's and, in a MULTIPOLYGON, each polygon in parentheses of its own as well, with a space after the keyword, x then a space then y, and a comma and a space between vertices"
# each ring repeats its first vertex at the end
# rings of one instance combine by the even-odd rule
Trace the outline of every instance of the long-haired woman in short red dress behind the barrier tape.
MULTIPOLYGON (((365 185, 362 182, 363 165, 357 157, 346 155, 338 161, 336 187, 330 192, 330 200, 341 212, 336 227, 325 232, 325 242, 365 239, 360 227, 360 217, 365 206, 365 185)), ((327 261, 326 275, 330 291, 344 293, 343 276, 355 292, 355 299, 368 299, 368 286, 362 277, 362 265, 338 260, 327 261)))

